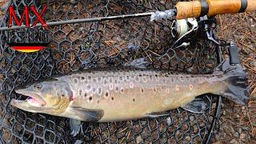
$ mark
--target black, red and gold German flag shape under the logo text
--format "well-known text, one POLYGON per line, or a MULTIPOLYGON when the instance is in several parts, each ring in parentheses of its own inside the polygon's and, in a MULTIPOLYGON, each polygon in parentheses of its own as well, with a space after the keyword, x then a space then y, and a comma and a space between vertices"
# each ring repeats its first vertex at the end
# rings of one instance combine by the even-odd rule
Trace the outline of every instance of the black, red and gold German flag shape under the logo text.
POLYGON ((9 46, 20 52, 32 53, 43 50, 49 43, 10 43, 9 46))

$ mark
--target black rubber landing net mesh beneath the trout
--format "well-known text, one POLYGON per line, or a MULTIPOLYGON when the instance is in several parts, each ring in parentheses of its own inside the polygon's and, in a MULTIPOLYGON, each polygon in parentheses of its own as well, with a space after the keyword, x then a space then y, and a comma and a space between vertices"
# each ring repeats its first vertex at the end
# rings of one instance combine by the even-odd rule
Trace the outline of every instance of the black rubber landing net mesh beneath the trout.
MULTIPOLYGON (((94 18, 134 14, 173 8, 171 1, 34 1, 14 0, 11 5, 21 14, 25 5, 42 10, 48 4, 46 22, 75 18, 94 18)), ((33 14, 30 18, 35 19, 33 14)), ((8 22, 7 15, 2 26, 8 22)), ((31 20, 31 22, 34 22, 31 20)), ((35 53, 20 53, 6 44, 6 31, 0 41, 0 139, 4 143, 69 142, 205 142, 212 131, 218 98, 203 96, 206 111, 193 114, 182 108, 169 116, 127 122, 82 123, 82 132, 71 137, 67 118, 32 114, 10 106, 14 88, 51 75, 70 71, 122 66, 137 58, 146 58, 150 67, 190 74, 207 74, 217 65, 216 46, 200 38, 186 38, 190 46, 168 49, 173 43, 171 20, 150 22, 150 18, 132 18, 106 22, 88 22, 50 26, 50 46, 35 53), (166 52, 167 50, 167 52, 166 52)), ((42 28, 37 28, 42 29, 42 28)), ((21 29, 18 31, 22 31, 21 29)))

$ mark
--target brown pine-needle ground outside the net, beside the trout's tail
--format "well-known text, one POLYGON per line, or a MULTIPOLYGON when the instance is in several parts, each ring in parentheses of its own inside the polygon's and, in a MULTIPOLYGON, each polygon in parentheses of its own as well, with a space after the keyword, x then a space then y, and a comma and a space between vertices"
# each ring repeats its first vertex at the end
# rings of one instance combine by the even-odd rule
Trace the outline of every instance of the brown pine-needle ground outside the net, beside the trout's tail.
POLYGON ((256 142, 256 12, 218 16, 218 38, 232 41, 240 50, 242 66, 249 75, 250 99, 246 106, 222 102, 215 143, 256 142))

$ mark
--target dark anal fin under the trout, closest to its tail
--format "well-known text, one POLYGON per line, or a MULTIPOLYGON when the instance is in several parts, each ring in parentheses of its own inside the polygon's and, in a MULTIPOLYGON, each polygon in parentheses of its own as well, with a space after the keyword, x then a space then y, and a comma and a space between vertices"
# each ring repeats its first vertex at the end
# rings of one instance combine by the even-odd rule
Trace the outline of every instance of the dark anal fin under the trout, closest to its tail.
POLYGON ((182 108, 190 111, 191 113, 202 114, 206 110, 206 102, 201 98, 195 98, 185 106, 182 106, 182 108))

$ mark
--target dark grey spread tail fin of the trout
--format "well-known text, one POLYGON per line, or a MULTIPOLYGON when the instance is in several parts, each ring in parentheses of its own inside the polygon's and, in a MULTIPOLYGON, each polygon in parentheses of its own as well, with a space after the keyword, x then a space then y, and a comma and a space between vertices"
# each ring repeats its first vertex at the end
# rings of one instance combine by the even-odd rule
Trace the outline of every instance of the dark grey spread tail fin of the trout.
POLYGON ((216 67, 215 72, 218 71, 224 73, 224 81, 228 83, 223 97, 238 104, 245 105, 249 93, 247 90, 247 74, 242 69, 242 66, 239 64, 230 65, 230 58, 226 58, 226 60, 216 67))

